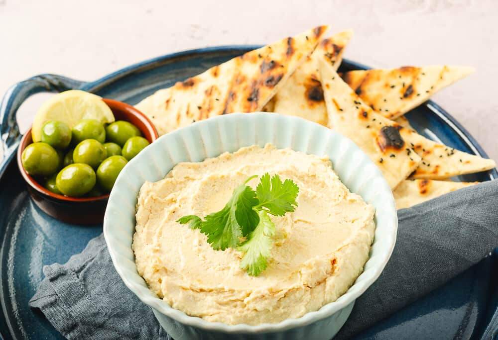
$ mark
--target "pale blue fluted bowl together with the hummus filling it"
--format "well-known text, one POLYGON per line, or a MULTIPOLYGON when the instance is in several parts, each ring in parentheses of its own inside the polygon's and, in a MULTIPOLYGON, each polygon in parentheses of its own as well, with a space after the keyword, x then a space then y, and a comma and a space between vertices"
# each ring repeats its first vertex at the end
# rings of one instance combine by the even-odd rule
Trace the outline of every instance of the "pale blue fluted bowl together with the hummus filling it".
POLYGON ((396 231, 392 192, 367 155, 323 126, 269 113, 162 136, 120 173, 104 219, 116 270, 176 340, 330 339, 380 275, 396 231), (238 188, 264 195, 265 176, 279 199, 278 180, 295 185, 294 205, 262 209, 257 223, 271 233, 228 232, 248 204, 231 203, 238 188), (185 216, 199 224, 181 224, 185 216))

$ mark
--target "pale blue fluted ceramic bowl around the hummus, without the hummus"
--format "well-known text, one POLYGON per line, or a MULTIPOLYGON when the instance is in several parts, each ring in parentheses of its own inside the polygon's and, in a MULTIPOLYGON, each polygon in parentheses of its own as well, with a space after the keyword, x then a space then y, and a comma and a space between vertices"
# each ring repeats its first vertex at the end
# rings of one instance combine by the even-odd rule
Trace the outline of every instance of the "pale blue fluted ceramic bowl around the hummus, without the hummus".
POLYGON ((355 300, 380 275, 394 248, 397 214, 391 189, 380 170, 351 140, 321 125, 293 116, 246 113, 218 116, 160 137, 131 160, 111 192, 104 236, 116 270, 126 286, 152 307, 161 326, 175 339, 330 339, 343 326, 355 300), (223 152, 272 143, 307 154, 327 156, 341 181, 375 207, 375 239, 370 259, 355 284, 316 312, 277 324, 258 326, 211 323, 171 308, 136 271, 131 242, 141 185, 157 181, 180 162, 200 162, 223 152))

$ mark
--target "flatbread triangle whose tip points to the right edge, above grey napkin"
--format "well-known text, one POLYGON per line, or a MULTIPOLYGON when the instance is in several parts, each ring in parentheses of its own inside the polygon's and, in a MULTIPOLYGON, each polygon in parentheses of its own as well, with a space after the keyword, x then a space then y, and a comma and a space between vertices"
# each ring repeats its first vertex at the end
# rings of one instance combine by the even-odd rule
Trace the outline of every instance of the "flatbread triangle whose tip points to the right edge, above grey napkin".
POLYGON ((444 179, 496 167, 493 160, 436 143, 419 135, 414 130, 402 128, 399 133, 407 142, 410 150, 422 158, 417 170, 410 178, 444 179))

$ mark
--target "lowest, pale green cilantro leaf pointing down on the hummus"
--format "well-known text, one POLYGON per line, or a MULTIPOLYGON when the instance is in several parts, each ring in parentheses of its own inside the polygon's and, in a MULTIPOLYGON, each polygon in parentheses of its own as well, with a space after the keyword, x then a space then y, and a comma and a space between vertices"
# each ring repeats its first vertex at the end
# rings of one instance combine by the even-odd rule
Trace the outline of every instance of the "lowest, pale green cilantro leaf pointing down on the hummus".
POLYGON ((258 276, 268 266, 267 258, 270 256, 273 245, 272 237, 275 235, 275 225, 264 210, 258 210, 259 223, 249 233, 248 240, 238 250, 246 252, 241 261, 241 268, 251 276, 258 276))

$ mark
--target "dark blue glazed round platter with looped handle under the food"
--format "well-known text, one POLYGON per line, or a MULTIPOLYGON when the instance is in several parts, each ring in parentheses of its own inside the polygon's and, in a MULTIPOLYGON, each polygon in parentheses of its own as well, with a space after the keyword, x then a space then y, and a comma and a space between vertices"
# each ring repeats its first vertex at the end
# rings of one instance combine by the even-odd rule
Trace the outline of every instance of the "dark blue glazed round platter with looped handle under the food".
MULTIPOLYGON (((5 149, 0 163, 0 335, 3 339, 63 339, 43 315, 29 309, 28 301, 44 277, 43 265, 66 262, 71 255, 81 252, 90 239, 102 233, 102 225, 64 224, 33 204, 13 160, 20 135, 12 112, 33 93, 70 88, 135 104, 159 88, 257 47, 213 47, 175 53, 89 83, 41 75, 8 90, 0 107, 0 132, 5 149)), ((365 68, 344 60, 340 71, 365 68)), ((474 138, 432 101, 406 117, 417 131, 431 139, 487 157, 474 138)), ((498 178, 497 170, 460 177, 472 181, 494 178, 498 178)), ((492 318, 497 308, 498 252, 495 251, 443 287, 355 339, 490 339, 496 332, 498 322, 492 318)))

